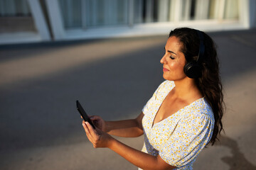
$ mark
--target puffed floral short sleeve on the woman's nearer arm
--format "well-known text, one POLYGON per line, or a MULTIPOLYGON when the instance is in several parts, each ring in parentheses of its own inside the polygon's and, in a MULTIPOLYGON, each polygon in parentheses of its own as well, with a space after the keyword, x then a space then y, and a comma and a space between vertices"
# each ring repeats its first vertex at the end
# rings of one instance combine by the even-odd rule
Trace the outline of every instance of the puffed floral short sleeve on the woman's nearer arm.
POLYGON ((173 134, 161 146, 160 157, 172 166, 185 166, 208 144, 213 127, 214 118, 207 114, 193 113, 182 118, 173 134))

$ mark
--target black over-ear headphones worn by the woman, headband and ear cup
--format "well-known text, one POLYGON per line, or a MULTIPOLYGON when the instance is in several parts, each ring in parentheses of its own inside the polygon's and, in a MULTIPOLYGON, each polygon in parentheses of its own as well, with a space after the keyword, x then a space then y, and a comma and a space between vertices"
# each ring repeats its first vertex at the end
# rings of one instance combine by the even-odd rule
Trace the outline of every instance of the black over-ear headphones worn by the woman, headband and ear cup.
POLYGON ((200 60, 203 58, 205 52, 205 46, 203 44, 203 33, 200 30, 196 30, 196 33, 198 34, 198 37, 200 39, 198 57, 196 61, 188 62, 183 68, 183 71, 186 74, 186 76, 191 79, 196 79, 202 76, 200 60))

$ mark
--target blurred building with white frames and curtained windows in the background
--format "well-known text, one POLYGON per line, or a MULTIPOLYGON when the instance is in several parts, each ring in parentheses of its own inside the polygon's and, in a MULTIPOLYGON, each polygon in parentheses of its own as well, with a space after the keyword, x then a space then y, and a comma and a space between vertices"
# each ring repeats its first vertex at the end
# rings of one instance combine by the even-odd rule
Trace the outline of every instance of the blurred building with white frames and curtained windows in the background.
POLYGON ((256 27, 255 0, 0 0, 0 44, 256 27))

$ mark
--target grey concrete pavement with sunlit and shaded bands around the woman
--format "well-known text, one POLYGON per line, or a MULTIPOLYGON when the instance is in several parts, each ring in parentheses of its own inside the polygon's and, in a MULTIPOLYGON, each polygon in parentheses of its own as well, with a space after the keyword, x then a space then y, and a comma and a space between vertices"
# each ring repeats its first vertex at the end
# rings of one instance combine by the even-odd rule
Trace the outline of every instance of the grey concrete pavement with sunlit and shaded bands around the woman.
MULTIPOLYGON (((256 30, 209 34, 221 62, 225 135, 194 169, 256 169, 256 30)), ((137 169, 92 147, 75 100, 105 120, 137 116, 164 81, 166 38, 0 46, 0 169, 137 169)), ((143 137, 118 139, 142 148, 143 137)))

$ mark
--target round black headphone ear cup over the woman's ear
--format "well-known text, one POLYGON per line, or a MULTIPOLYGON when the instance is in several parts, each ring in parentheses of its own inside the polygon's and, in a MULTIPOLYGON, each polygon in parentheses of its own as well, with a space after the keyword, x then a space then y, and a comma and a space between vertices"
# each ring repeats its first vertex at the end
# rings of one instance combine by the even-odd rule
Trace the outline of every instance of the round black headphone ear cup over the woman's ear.
POLYGON ((187 77, 191 79, 196 79, 198 77, 202 76, 201 66, 198 64, 198 62, 188 62, 184 68, 183 71, 186 74, 187 77))

